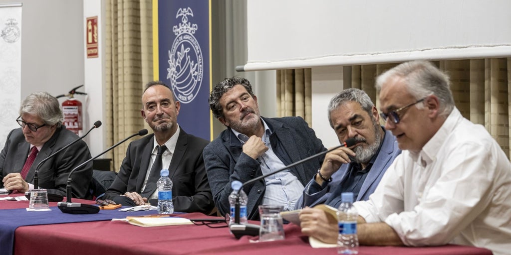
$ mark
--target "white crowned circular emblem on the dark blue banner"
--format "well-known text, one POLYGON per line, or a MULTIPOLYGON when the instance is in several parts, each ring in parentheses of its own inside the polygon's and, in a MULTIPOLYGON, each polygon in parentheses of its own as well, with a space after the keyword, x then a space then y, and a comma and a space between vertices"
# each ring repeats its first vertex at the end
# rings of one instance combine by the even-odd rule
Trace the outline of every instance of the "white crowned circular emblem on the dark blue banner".
POLYGON ((173 28, 176 38, 169 50, 167 79, 170 80, 176 98, 181 103, 188 104, 199 92, 204 63, 199 42, 193 35, 197 30, 197 24, 188 22, 187 16, 193 17, 192 10, 181 8, 176 18, 179 16, 182 16, 182 22, 173 28))

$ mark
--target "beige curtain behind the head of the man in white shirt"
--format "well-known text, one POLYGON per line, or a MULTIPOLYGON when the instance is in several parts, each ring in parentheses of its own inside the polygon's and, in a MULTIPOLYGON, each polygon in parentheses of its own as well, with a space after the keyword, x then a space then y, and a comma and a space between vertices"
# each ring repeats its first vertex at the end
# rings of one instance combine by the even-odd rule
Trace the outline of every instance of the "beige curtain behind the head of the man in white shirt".
MULTIPOLYGON (((451 91, 461 114, 482 124, 509 158, 511 122, 511 59, 434 61, 451 78, 451 91)), ((379 109, 376 77, 399 63, 352 66, 353 87, 364 90, 379 109)))

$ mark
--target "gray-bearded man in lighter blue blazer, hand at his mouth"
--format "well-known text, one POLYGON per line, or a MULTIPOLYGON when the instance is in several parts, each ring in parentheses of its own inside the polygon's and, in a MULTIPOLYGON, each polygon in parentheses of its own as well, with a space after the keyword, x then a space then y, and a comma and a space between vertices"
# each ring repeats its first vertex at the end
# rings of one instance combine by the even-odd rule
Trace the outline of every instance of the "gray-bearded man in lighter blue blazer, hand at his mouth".
MULTIPOLYGON (((296 209, 320 203, 338 208, 343 192, 353 192, 356 201, 369 199, 387 168, 401 154, 396 137, 379 124, 378 110, 364 91, 345 89, 337 93, 330 100, 328 112, 339 141, 355 138, 356 144, 327 154, 296 209)), ((328 224, 320 209, 306 208, 299 217, 304 234, 328 224)))

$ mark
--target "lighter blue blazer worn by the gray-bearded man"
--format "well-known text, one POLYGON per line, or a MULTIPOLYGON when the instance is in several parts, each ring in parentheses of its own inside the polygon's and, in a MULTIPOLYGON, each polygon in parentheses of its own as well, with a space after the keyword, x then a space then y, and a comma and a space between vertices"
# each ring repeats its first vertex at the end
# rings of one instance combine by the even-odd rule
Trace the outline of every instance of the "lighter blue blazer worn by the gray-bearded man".
MULTIPOLYGON (((367 173, 365 181, 360 188, 360 192, 356 197, 356 201, 369 199, 369 195, 373 194, 387 168, 400 154, 401 150, 398 147, 396 137, 393 136, 390 131, 385 131, 383 144, 380 151, 378 151, 375 163, 367 173)), ((315 185, 316 187, 319 187, 313 177, 313 179, 305 187, 302 197, 298 200, 298 202, 296 202, 295 208, 300 209, 306 206, 313 207, 321 203, 325 203, 335 208, 339 207, 341 203, 341 184, 346 179, 346 173, 349 168, 350 164, 343 164, 339 170, 332 175, 331 183, 329 183, 326 187, 323 187, 320 191, 309 194, 310 190, 315 190, 311 186, 315 185)))

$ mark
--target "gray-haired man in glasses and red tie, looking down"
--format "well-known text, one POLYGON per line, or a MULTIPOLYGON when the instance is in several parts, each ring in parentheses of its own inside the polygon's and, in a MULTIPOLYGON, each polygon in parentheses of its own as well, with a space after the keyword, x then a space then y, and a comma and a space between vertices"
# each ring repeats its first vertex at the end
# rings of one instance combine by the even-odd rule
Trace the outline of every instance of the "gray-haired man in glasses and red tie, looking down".
MULTIPOLYGON (((0 186, 8 191, 26 192, 34 188, 35 168, 43 159, 78 139, 62 125, 62 110, 57 98, 47 92, 27 96, 16 119, 21 128, 12 130, 0 153, 0 186)), ((90 159, 84 141, 79 141, 39 167, 39 187, 49 193, 66 195, 67 175, 90 159)), ((91 198, 92 162, 73 173, 72 195, 91 198)))

